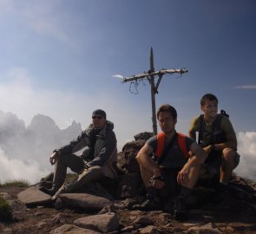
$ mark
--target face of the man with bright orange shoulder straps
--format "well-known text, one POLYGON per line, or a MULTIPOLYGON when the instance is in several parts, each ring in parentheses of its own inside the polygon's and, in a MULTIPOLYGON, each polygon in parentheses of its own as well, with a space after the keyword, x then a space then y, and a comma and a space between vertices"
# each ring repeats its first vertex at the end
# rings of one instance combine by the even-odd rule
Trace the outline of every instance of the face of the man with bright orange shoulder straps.
POLYGON ((159 114, 158 121, 161 131, 164 133, 172 133, 175 129, 175 124, 177 123, 177 120, 174 120, 172 114, 166 111, 159 114))

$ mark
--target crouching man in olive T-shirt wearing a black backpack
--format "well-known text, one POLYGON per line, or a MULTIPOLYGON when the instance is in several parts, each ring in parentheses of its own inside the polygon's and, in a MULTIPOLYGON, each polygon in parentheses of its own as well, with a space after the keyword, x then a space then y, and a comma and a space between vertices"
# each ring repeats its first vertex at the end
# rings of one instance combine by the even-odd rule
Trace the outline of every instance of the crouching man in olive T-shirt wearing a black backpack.
POLYGON ((194 118, 189 129, 189 135, 207 152, 207 160, 201 167, 200 178, 213 179, 217 177, 217 193, 226 192, 226 185, 231 178, 233 169, 240 162, 237 151, 237 139, 232 123, 225 114, 217 114, 218 99, 213 94, 205 94, 200 100, 204 114, 194 118), (218 182, 218 181, 217 181, 218 182))

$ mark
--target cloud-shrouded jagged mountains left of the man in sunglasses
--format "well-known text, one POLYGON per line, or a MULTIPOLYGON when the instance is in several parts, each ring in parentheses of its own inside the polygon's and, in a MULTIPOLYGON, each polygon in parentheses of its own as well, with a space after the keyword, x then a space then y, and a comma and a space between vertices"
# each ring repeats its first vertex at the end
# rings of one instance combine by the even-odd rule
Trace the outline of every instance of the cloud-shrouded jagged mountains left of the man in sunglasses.
POLYGON ((34 184, 53 167, 49 155, 81 133, 75 121, 60 129, 55 121, 37 114, 28 127, 15 114, 0 111, 0 182, 25 179, 34 184))

